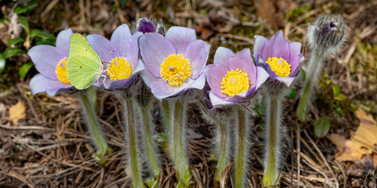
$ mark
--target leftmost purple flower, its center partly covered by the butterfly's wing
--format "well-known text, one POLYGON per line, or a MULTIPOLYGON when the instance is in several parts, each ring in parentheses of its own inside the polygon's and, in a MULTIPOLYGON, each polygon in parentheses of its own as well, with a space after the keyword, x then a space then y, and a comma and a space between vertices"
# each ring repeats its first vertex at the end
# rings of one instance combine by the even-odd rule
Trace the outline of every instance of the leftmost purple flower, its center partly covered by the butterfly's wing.
POLYGON ((28 51, 35 68, 40 74, 29 82, 32 94, 46 91, 49 96, 74 87, 67 78, 67 59, 70 49, 72 29, 59 32, 56 47, 52 45, 36 45, 28 51))

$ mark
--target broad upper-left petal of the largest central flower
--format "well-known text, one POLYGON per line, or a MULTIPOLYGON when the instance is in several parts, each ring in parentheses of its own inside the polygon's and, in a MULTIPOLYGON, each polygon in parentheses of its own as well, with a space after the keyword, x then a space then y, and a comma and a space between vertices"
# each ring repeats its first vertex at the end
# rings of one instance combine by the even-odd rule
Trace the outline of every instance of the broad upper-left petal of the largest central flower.
POLYGON ((173 53, 176 53, 173 44, 159 33, 146 33, 140 39, 140 54, 153 76, 161 76, 160 65, 173 53))

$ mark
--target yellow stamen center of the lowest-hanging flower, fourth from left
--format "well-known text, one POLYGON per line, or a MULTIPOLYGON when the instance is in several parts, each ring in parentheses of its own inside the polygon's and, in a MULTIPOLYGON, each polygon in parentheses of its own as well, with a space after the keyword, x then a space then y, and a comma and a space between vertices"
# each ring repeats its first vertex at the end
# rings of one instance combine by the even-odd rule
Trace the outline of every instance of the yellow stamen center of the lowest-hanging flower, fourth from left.
POLYGON ((249 89, 249 77, 247 73, 242 72, 238 68, 234 71, 228 71, 224 77, 222 77, 221 82, 223 90, 222 93, 227 94, 229 97, 240 94, 249 89))

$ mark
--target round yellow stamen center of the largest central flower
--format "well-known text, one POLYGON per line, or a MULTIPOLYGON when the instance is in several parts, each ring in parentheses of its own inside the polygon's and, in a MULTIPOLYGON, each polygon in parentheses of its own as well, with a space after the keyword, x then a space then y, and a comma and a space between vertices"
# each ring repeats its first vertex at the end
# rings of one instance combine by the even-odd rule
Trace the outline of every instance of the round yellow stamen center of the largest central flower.
POLYGON ((190 61, 182 54, 170 54, 160 65, 160 74, 169 85, 182 85, 191 76, 190 61))

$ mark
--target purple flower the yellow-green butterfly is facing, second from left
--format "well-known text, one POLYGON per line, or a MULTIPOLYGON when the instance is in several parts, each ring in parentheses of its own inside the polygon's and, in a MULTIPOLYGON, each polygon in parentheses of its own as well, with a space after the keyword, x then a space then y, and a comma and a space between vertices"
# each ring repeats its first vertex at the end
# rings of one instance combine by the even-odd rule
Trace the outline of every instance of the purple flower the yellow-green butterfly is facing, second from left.
MULTIPOLYGON (((100 34, 86 36, 93 50, 104 62, 104 70, 98 83, 101 87, 108 88, 127 88, 144 69, 143 63, 139 62, 138 38, 142 32, 135 32, 131 35, 127 24, 118 26, 110 41, 100 34), (105 79, 105 81, 103 81, 105 79), (103 84, 105 83, 105 84, 103 84)), ((97 85, 95 82, 93 85, 97 85)))

